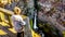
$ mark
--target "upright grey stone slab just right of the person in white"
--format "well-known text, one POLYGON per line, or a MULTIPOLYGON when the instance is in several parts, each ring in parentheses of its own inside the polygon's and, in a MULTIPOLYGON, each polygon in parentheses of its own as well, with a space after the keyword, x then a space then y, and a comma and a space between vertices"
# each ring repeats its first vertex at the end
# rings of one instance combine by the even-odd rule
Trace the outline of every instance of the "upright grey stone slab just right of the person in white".
POLYGON ((25 26, 25 37, 31 37, 31 28, 30 28, 30 24, 29 24, 29 17, 26 17, 24 20, 26 22, 26 26, 25 26))

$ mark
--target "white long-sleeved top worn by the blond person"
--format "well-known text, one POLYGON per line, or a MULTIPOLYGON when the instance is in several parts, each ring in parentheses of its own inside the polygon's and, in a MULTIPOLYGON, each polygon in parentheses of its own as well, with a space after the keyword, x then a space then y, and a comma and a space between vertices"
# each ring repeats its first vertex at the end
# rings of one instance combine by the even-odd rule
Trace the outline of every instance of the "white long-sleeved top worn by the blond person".
POLYGON ((21 15, 12 15, 11 18, 12 18, 15 30, 20 33, 22 25, 25 25, 25 22, 23 21, 22 16, 21 15))

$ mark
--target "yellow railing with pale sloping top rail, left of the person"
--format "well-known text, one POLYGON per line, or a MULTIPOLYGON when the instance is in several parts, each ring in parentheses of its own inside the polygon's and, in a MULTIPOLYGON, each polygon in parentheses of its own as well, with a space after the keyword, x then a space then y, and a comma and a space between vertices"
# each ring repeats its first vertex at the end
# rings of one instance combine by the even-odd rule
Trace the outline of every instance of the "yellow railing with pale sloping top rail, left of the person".
POLYGON ((9 26, 12 27, 12 22, 10 18, 12 14, 12 11, 0 8, 0 24, 9 24, 9 26))

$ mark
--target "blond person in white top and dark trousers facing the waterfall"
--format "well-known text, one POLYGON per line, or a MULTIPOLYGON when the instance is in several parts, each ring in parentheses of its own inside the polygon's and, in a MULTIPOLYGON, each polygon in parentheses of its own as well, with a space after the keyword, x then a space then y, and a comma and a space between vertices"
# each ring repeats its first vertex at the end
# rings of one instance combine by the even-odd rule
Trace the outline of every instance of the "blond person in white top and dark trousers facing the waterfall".
POLYGON ((21 9, 15 7, 14 8, 14 15, 11 16, 12 22, 13 22, 13 27, 17 32, 17 37, 24 37, 24 26, 25 22, 23 21, 21 14, 21 9), (21 34, 23 34, 21 36, 21 34))

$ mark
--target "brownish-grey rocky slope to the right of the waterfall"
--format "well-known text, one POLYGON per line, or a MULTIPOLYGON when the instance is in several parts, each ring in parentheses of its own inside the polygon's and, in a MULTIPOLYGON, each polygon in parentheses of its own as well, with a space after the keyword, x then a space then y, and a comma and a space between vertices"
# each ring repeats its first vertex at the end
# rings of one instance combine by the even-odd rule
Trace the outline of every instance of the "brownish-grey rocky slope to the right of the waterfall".
MULTIPOLYGON (((51 9, 54 8, 54 9, 49 10, 49 11, 46 11, 46 9, 44 9, 46 2, 42 2, 42 3, 41 3, 41 1, 39 1, 39 2, 40 2, 39 4, 41 5, 41 8, 43 8, 43 9, 41 9, 41 11, 38 12, 38 18, 42 22, 50 23, 50 25, 55 26, 61 32, 65 30, 65 26, 64 26, 65 25, 65 18, 64 18, 65 13, 63 12, 64 8, 62 8, 63 7, 61 4, 62 2, 56 1, 56 3, 54 3, 54 0, 53 0, 53 2, 50 2, 50 4, 51 4, 50 8, 51 9)), ((48 3, 48 1, 47 1, 47 3, 48 3)))

